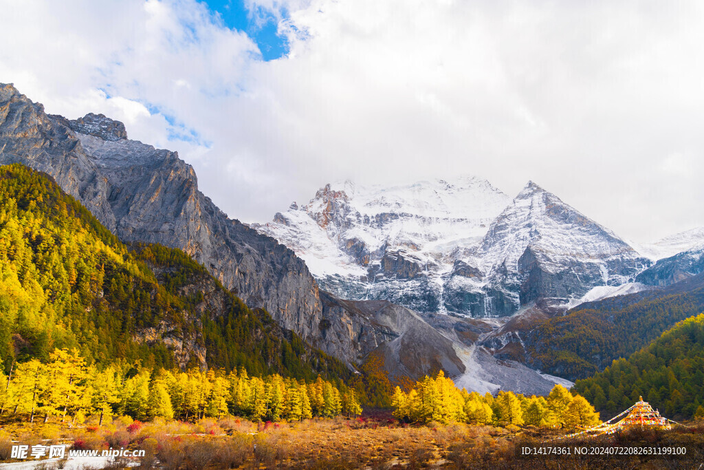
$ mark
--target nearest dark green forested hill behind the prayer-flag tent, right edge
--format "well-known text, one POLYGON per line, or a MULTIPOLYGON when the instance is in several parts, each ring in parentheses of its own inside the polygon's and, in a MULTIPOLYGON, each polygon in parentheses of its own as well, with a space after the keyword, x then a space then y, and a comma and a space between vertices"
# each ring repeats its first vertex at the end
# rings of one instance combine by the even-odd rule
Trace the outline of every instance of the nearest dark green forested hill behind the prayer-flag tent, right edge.
POLYGON ((704 314, 677 323, 574 388, 608 416, 642 396, 669 418, 704 417, 704 314))

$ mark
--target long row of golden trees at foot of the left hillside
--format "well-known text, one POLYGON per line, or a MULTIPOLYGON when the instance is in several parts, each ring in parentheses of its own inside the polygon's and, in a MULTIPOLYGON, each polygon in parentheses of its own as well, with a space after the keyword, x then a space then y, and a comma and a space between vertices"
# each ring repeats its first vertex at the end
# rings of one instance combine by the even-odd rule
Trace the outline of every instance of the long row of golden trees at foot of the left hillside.
POLYGON ((81 423, 88 416, 196 420, 244 416, 253 421, 298 421, 313 416, 357 416, 356 393, 320 376, 315 381, 239 371, 146 369, 125 363, 97 368, 77 350, 54 350, 49 361, 13 364, 0 372, 0 413, 81 423))

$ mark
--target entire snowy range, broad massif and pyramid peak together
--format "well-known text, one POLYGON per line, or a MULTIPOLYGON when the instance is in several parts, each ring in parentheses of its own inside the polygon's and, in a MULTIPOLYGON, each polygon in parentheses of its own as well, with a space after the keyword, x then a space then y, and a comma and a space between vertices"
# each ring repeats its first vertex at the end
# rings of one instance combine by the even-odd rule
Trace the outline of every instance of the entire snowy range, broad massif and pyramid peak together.
POLYGON ((255 227, 294 249, 340 297, 388 299, 422 314, 507 316, 538 299, 565 304, 650 264, 534 183, 510 200, 471 177, 326 185, 255 227))

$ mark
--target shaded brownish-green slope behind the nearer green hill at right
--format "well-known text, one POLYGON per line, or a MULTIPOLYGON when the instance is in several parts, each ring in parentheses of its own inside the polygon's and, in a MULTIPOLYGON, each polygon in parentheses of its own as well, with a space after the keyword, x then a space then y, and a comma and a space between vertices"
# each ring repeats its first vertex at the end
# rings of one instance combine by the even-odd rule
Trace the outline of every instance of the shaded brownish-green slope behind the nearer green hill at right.
POLYGON ((527 334, 529 364, 570 380, 586 378, 614 359, 629 357, 667 328, 701 311, 702 275, 655 294, 586 304, 565 316, 543 321, 527 334))

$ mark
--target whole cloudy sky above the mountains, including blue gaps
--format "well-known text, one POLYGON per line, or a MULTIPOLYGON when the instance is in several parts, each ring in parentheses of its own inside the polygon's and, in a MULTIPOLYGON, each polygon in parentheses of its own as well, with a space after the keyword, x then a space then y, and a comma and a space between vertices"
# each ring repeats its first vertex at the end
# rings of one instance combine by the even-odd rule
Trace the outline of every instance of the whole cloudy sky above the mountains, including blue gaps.
POLYGON ((534 180, 636 242, 704 225, 699 1, 0 0, 0 82, 177 150, 231 217, 329 181, 534 180))

